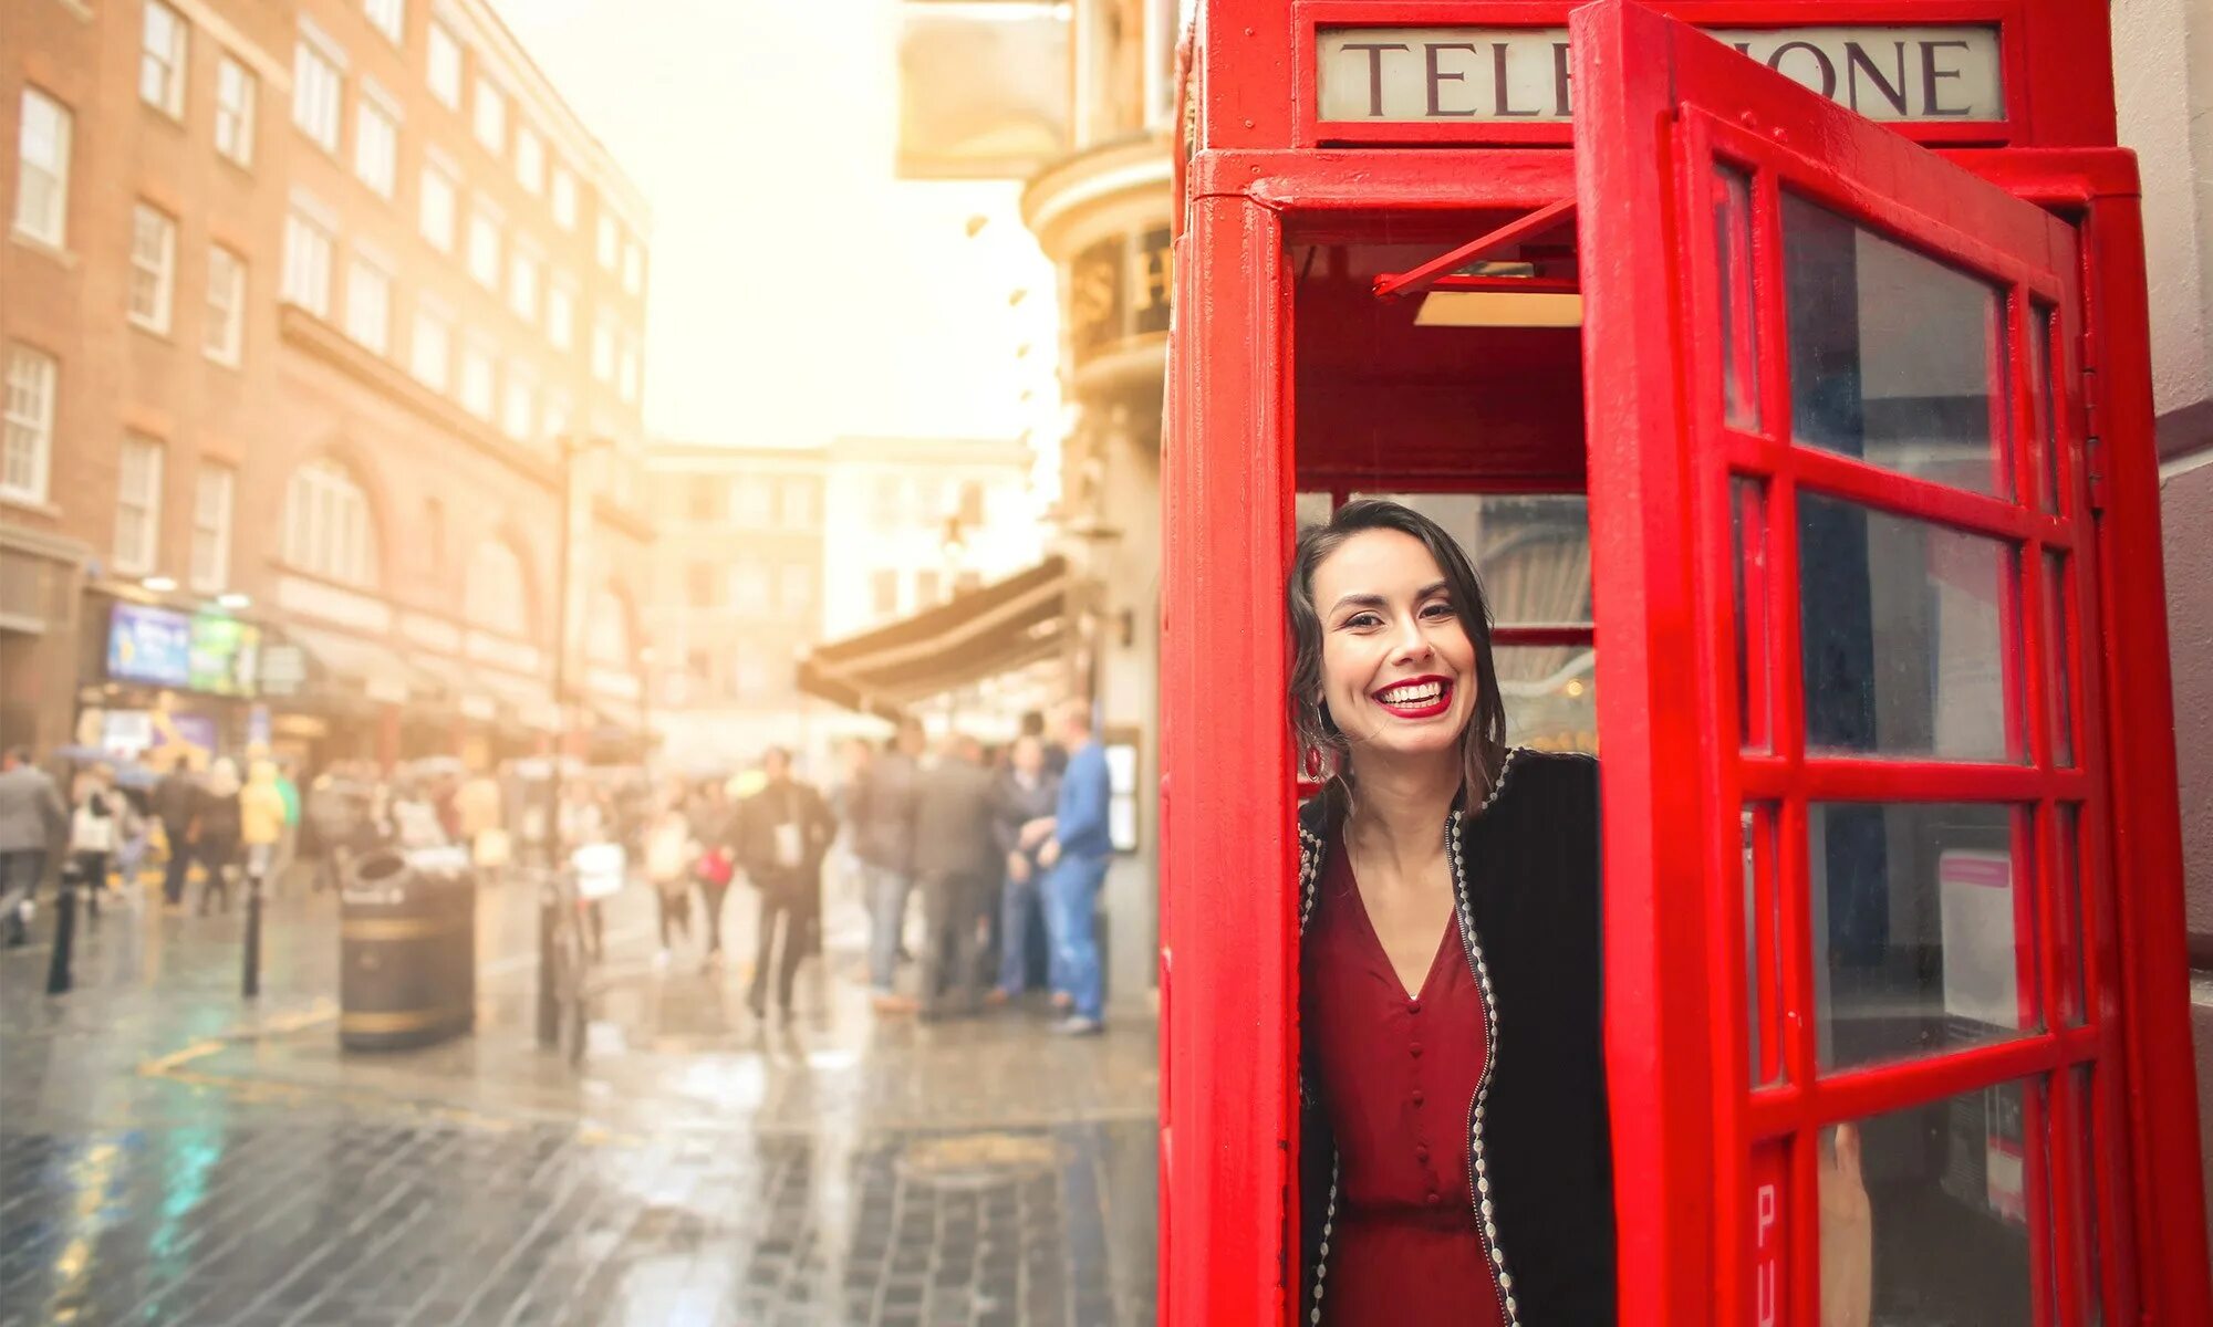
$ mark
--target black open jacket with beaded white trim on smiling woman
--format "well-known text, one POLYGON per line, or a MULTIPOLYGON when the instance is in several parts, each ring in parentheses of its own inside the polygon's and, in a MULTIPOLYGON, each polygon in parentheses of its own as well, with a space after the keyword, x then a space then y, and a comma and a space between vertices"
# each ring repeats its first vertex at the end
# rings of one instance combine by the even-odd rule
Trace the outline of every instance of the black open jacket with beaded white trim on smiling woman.
MULTIPOLYGON (((1299 814, 1299 933, 1339 827, 1299 814)), ((1600 1051, 1598 761, 1514 750, 1492 801, 1443 827, 1461 938, 1485 993, 1489 1059, 1465 1106, 1478 1227, 1507 1327, 1593 1327, 1613 1307, 1613 1143, 1600 1051)), ((1301 1320, 1328 1300, 1337 1197, 1326 1084, 1301 1068, 1301 1320), (1321 1298, 1317 1298, 1317 1285, 1321 1298)))

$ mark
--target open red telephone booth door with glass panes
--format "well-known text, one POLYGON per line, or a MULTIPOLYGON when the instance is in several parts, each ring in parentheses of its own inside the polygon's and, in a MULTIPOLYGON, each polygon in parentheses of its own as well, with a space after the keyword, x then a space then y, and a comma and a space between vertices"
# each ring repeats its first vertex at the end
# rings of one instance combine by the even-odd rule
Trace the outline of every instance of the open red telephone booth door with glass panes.
POLYGON ((2138 1320, 2078 232, 1571 33, 1622 1303, 2138 1320))

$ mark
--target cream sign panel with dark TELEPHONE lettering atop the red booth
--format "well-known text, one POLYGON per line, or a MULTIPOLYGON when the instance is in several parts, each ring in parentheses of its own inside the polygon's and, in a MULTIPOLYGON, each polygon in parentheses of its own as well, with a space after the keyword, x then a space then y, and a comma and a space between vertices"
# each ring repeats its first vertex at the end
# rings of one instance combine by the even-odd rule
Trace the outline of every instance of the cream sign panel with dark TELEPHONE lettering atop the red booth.
MULTIPOLYGON (((1998 29, 1706 29, 1868 119, 2005 119, 1998 29)), ((1573 117, 1567 29, 1339 27, 1317 33, 1323 122, 1547 124, 1573 117)))

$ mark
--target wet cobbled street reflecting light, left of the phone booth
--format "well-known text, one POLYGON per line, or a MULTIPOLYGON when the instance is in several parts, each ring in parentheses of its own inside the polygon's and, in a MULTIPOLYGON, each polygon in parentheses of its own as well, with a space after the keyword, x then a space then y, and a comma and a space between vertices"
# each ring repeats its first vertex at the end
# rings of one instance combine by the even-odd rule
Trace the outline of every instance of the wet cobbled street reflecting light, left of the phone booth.
POLYGON ((237 913, 111 907, 62 997, 0 951, 0 1327, 1151 1320, 1149 1022, 879 1022, 832 909, 761 1026, 651 907, 609 905, 582 1066, 531 1037, 516 885, 476 1035, 423 1051, 339 1048, 328 896, 272 905, 254 1002, 237 913))

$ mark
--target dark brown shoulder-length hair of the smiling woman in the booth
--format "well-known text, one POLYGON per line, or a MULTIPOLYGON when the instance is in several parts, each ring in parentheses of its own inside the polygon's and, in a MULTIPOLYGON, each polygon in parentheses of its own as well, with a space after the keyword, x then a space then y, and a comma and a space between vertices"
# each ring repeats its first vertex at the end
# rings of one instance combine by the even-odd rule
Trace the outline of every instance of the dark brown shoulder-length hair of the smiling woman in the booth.
POLYGON ((1492 606, 1483 597, 1476 566, 1445 526, 1412 506, 1381 498, 1346 502, 1328 524, 1306 526, 1290 557, 1284 606, 1290 613, 1290 730, 1297 736, 1301 774, 1308 779, 1319 774, 1332 818, 1350 809, 1352 745, 1330 721, 1328 703, 1321 699, 1321 613, 1315 608, 1315 568, 1363 531, 1399 531, 1421 540, 1445 573, 1452 608, 1476 648, 1476 710, 1461 734, 1461 805, 1480 807, 1507 754, 1507 706, 1498 694, 1498 670, 1492 668, 1492 606), (1308 765, 1308 752, 1321 754, 1321 770, 1308 765))

